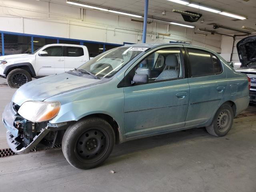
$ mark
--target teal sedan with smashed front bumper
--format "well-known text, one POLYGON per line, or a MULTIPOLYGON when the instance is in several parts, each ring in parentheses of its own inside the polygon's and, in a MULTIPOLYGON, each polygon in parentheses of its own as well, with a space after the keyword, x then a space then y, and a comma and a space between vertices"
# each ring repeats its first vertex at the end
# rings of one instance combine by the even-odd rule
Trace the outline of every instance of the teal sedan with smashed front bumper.
POLYGON ((249 103, 250 79, 216 52, 186 44, 134 44, 21 86, 3 123, 18 153, 62 144, 80 169, 114 144, 190 128, 225 136, 249 103))

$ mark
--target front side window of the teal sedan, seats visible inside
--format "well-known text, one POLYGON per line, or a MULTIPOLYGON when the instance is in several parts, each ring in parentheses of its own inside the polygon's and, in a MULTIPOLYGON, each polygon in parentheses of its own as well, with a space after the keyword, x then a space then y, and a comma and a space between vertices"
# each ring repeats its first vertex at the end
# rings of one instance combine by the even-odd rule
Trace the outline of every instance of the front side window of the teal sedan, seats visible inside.
POLYGON ((142 60, 134 74, 147 74, 148 82, 177 79, 182 77, 182 56, 179 48, 158 50, 142 60))

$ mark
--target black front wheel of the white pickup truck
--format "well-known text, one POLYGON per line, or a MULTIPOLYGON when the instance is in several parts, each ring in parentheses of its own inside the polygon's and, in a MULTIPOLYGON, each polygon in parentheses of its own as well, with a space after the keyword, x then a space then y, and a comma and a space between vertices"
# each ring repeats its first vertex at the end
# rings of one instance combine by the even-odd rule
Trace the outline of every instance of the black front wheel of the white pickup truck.
POLYGON ((29 81, 32 81, 32 77, 24 69, 11 70, 7 75, 7 84, 10 88, 19 88, 29 81))

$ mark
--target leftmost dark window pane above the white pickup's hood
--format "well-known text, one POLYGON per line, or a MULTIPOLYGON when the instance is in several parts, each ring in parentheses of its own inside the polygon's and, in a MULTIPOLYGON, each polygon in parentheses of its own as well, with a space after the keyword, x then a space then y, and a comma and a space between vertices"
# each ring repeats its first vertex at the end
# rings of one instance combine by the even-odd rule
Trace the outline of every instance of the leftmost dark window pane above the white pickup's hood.
POLYGON ((31 53, 31 37, 4 34, 4 54, 31 53))

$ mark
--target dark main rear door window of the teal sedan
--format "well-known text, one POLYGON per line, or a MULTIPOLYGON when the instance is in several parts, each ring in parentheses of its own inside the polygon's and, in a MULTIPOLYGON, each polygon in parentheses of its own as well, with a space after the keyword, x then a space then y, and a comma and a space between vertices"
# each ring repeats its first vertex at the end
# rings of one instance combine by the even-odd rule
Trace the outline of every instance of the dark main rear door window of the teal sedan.
POLYGON ((190 76, 208 76, 214 74, 211 54, 198 49, 188 49, 190 76))

